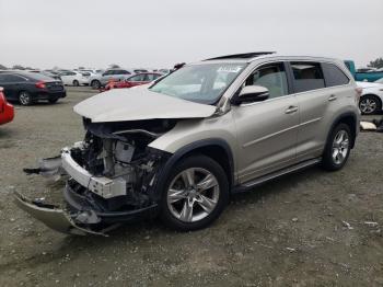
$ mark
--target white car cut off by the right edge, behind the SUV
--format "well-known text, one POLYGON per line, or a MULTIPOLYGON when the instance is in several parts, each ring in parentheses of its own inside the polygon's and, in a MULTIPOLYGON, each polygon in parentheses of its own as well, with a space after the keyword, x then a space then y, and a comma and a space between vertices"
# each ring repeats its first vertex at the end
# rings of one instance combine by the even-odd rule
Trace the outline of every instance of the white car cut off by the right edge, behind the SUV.
POLYGON ((382 112, 382 79, 376 82, 357 82, 357 84, 363 90, 359 101, 360 112, 364 115, 372 115, 382 112))

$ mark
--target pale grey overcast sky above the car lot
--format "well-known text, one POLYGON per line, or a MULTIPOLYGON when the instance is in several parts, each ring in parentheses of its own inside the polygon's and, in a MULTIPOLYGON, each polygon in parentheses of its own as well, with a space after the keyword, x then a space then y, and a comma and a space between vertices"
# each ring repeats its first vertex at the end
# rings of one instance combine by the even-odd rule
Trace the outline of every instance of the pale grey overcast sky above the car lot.
POLYGON ((277 50, 383 57, 383 0, 0 0, 0 64, 165 68, 277 50))

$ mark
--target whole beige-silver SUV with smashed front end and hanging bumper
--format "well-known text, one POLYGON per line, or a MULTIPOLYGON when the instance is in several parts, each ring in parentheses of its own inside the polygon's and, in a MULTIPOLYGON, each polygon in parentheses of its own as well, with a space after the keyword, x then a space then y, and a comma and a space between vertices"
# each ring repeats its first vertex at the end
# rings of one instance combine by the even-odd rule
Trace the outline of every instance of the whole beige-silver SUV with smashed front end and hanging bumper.
POLYGON ((231 194, 317 163, 341 169, 358 99, 340 60, 249 53, 186 65, 74 106, 84 140, 26 170, 65 175, 67 206, 16 203, 77 234, 156 215, 177 230, 204 228, 231 194))

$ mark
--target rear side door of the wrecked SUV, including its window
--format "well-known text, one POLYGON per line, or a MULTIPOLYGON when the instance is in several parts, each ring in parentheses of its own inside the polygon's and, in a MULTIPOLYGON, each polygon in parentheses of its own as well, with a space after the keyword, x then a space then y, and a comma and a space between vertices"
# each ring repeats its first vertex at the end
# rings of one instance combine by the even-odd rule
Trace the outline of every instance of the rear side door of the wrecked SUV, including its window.
MULTIPOLYGON (((316 61, 291 61, 293 90, 300 108, 297 160, 320 157, 341 95, 332 79, 333 66, 316 61), (332 87, 333 88, 329 88, 332 87)), ((340 71, 341 72, 341 71, 340 71)), ((341 72, 343 73, 343 72, 341 72)), ((343 80, 349 79, 343 73, 343 80)), ((345 92, 349 91, 348 88, 345 92)))

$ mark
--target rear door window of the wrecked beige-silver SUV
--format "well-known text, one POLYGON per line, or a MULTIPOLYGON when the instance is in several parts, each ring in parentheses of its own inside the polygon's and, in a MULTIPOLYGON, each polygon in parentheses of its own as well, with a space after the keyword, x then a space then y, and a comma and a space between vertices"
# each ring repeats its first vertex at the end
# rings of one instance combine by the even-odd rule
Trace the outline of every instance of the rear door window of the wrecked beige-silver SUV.
POLYGON ((318 62, 291 62, 294 76, 295 93, 325 88, 321 64, 318 62))

